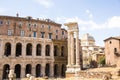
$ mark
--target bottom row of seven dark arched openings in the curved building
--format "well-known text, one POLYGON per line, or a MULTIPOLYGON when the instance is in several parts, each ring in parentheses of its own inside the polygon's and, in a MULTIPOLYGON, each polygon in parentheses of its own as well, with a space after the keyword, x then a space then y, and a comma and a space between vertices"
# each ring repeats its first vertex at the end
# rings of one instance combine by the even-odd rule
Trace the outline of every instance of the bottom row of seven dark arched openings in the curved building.
MULTIPOLYGON (((5 64, 3 66, 3 79, 8 79, 8 74, 9 74, 9 70, 10 70, 10 65, 9 64, 5 64)), ((61 72, 59 72, 59 66, 58 64, 54 64, 54 77, 65 77, 65 64, 62 64, 61 66, 61 72), (60 74, 61 73, 61 74, 60 74)), ((15 65, 15 69, 14 72, 16 74, 16 78, 21 78, 21 65, 20 64, 16 64, 15 65)), ((26 68, 25 68, 25 75, 26 74, 32 74, 32 66, 31 64, 27 64, 26 68)), ((47 63, 45 66, 45 75, 42 74, 42 69, 41 69, 41 64, 37 64, 36 68, 35 68, 35 77, 43 77, 43 76, 48 76, 50 77, 50 64, 47 63)))

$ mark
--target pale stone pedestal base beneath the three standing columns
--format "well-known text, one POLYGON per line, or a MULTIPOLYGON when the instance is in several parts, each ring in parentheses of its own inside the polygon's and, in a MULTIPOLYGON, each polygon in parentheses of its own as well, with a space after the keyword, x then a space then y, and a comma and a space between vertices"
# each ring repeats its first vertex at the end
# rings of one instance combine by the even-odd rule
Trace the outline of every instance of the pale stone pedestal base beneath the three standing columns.
POLYGON ((67 66, 66 77, 75 77, 75 74, 81 70, 79 65, 67 66))

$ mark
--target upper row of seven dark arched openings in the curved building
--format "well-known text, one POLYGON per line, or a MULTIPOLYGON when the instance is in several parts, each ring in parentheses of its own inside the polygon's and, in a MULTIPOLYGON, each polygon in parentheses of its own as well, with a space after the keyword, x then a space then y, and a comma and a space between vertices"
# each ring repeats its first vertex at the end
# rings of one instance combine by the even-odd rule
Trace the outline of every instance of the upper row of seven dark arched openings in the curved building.
MULTIPOLYGON (((65 52, 64 48, 65 48, 64 46, 61 47, 61 56, 64 56, 64 52, 65 52)), ((5 56, 10 56, 11 55, 11 49, 12 49, 11 43, 7 42, 5 44, 4 55, 5 56)), ((50 56, 50 50, 51 50, 51 47, 50 47, 50 45, 47 44, 45 46, 45 56, 50 56)), ((55 45, 54 46, 54 56, 58 56, 58 51, 59 51, 58 50, 58 46, 55 45)), ((22 44, 21 43, 17 43, 16 44, 15 54, 16 54, 16 56, 22 55, 22 44)), ((42 45, 41 44, 37 44, 36 45, 36 55, 37 56, 41 56, 41 54, 42 54, 42 45)), ((28 43, 26 45, 26 55, 32 56, 32 44, 31 43, 28 43)))

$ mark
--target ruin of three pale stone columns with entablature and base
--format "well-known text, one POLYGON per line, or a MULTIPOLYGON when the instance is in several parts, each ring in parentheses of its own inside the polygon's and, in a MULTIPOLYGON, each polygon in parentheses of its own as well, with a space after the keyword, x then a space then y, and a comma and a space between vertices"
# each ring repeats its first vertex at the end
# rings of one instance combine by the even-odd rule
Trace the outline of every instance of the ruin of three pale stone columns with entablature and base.
POLYGON ((64 25, 68 27, 68 64, 66 77, 69 77, 81 70, 79 53, 79 28, 77 22, 65 23, 64 25))

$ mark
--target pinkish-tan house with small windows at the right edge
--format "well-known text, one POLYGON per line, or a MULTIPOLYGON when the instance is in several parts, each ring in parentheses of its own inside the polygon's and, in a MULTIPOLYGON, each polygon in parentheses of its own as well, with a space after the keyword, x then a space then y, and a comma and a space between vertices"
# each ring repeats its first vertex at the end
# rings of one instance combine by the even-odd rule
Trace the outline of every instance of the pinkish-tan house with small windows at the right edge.
POLYGON ((106 64, 120 67, 120 36, 109 37, 104 42, 106 64))

